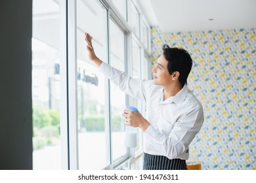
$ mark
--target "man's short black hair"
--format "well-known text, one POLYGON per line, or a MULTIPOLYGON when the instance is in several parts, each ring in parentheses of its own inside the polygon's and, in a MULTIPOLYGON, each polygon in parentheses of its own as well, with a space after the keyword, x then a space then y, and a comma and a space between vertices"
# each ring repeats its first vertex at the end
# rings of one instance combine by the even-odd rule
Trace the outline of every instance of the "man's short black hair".
POLYGON ((178 71, 179 82, 184 86, 187 84, 186 79, 192 68, 192 58, 190 54, 183 48, 170 48, 167 44, 163 45, 163 56, 168 61, 167 69, 171 75, 173 72, 178 71))

